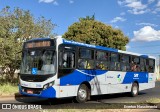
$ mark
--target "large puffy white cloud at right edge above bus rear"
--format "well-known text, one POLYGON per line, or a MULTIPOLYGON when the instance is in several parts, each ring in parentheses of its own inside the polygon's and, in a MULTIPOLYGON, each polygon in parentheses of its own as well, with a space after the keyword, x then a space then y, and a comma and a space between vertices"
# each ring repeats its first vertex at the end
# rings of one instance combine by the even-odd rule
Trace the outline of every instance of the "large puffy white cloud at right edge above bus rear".
POLYGON ((138 31, 133 31, 134 38, 131 41, 160 41, 160 30, 155 30, 151 26, 144 26, 138 31))

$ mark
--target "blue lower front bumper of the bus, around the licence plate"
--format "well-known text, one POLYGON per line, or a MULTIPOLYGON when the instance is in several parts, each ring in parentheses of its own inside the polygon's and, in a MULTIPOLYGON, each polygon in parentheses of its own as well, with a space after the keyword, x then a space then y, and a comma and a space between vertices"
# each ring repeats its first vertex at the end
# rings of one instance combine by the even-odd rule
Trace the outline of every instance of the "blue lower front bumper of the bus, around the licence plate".
MULTIPOLYGON (((35 96, 35 97, 42 97, 42 98, 56 98, 56 91, 53 87, 49 87, 45 90, 41 90, 40 91, 40 94, 30 94, 30 93, 27 93, 26 91, 24 91, 23 87, 21 87, 19 85, 19 93, 21 95, 26 95, 26 96, 35 96)), ((29 89, 29 88, 28 88, 29 89)), ((34 89, 32 89, 34 91, 34 89)))

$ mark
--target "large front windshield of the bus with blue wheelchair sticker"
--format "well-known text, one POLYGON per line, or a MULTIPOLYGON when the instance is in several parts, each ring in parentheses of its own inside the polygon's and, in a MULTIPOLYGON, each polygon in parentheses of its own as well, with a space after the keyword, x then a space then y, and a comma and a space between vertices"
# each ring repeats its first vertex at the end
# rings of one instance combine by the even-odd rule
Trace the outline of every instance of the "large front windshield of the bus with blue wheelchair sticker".
POLYGON ((55 74, 56 55, 53 50, 26 50, 22 55, 21 74, 55 74))

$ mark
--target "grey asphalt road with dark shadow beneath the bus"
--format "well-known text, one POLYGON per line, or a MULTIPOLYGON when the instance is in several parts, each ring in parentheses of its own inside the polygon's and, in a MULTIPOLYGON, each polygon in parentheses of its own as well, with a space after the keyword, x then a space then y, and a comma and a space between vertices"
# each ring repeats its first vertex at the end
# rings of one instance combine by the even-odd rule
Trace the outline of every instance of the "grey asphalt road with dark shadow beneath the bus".
MULTIPOLYGON (((92 96, 91 101, 88 101, 83 104, 74 103, 72 98, 48 100, 36 97, 15 97, 2 98, 0 99, 0 103, 43 105, 43 108, 95 108, 95 106, 97 105, 99 105, 102 108, 106 108, 105 106, 107 105, 105 103, 116 103, 116 105, 120 105, 121 103, 130 104, 135 102, 145 102, 146 100, 152 98, 160 98, 160 81, 156 82, 155 88, 141 91, 137 97, 130 97, 129 93, 92 96)), ((108 106, 109 108, 111 107, 111 105, 108 106)))

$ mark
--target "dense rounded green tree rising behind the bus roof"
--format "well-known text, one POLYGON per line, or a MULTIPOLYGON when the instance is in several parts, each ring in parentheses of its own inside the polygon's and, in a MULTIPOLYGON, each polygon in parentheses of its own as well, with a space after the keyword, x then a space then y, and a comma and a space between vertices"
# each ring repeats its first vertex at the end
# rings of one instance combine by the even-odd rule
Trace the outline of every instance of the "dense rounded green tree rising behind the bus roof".
POLYGON ((128 37, 120 29, 114 29, 109 25, 96 21, 94 15, 80 18, 79 22, 72 24, 62 37, 68 40, 120 50, 126 50, 125 46, 129 42, 128 37))

